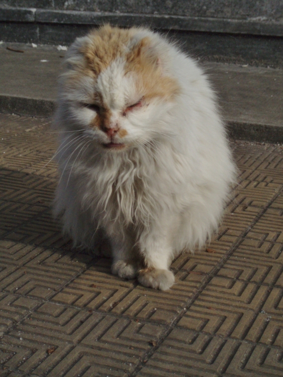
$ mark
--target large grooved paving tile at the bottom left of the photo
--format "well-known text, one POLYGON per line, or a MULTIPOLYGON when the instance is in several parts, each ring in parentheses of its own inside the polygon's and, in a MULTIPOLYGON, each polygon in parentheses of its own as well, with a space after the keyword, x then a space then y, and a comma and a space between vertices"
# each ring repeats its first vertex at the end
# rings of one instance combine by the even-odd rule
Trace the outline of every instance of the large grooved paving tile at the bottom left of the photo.
POLYGON ((45 303, 3 338, 0 349, 5 366, 26 373, 77 375, 85 368, 89 373, 113 368, 109 375, 124 375, 163 332, 160 325, 45 303))

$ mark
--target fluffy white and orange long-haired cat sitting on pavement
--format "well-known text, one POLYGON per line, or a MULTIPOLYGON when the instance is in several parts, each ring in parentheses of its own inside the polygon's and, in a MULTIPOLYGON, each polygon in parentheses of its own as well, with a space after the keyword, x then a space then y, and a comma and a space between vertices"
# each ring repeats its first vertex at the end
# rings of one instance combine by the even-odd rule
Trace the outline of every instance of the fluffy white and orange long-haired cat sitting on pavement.
POLYGON ((210 239, 236 177, 216 95, 146 28, 93 30, 64 64, 54 214, 75 246, 110 243, 113 274, 168 290, 172 259, 210 239))

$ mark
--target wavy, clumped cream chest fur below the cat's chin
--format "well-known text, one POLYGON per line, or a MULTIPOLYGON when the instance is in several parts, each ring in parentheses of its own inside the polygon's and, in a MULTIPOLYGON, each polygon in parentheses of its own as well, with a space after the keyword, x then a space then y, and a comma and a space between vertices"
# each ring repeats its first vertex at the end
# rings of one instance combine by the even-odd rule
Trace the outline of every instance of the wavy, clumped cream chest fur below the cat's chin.
POLYGON ((92 207, 102 223, 126 226, 148 222, 157 206, 155 180, 160 167, 153 158, 131 156, 123 161, 104 161, 91 171, 92 207))

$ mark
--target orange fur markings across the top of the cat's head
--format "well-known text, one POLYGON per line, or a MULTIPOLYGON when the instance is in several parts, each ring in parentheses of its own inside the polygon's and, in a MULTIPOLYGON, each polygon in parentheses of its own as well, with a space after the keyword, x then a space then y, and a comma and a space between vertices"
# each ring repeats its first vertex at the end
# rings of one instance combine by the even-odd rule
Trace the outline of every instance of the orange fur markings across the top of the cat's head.
POLYGON ((180 92, 180 87, 176 79, 163 75, 159 57, 151 50, 150 37, 143 38, 131 51, 128 50, 127 45, 136 30, 106 25, 92 31, 88 35, 91 42, 85 43, 80 50, 85 57, 87 74, 90 70, 97 77, 117 57, 124 57, 125 75, 136 73, 137 89, 145 100, 154 97, 173 100, 180 92))

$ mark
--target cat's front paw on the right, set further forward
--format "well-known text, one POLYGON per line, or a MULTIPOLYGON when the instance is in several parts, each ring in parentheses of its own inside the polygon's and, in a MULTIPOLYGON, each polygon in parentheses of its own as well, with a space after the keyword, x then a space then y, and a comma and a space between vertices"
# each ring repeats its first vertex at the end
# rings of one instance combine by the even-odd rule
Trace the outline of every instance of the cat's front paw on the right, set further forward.
POLYGON ((166 291, 174 284, 175 277, 173 272, 167 269, 145 268, 139 271, 138 280, 144 287, 166 291))

